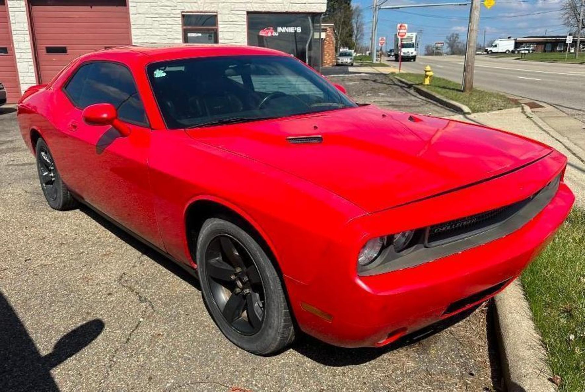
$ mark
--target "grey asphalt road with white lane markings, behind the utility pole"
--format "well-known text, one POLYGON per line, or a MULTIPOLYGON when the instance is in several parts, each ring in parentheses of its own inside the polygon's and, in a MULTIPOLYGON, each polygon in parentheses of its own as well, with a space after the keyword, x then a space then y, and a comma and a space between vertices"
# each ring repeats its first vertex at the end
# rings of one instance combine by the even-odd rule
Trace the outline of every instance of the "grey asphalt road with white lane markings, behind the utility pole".
MULTIPOLYGON (((390 61, 390 64, 396 64, 390 61)), ((402 63, 402 70, 423 73, 430 65, 438 77, 463 78, 463 56, 419 56, 402 63)), ((476 56, 476 87, 531 98, 556 106, 585 122, 585 65, 542 63, 476 56)))

